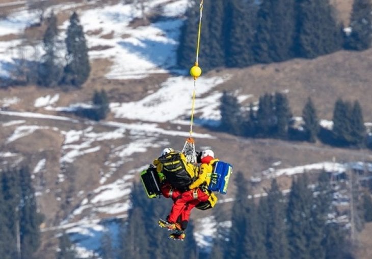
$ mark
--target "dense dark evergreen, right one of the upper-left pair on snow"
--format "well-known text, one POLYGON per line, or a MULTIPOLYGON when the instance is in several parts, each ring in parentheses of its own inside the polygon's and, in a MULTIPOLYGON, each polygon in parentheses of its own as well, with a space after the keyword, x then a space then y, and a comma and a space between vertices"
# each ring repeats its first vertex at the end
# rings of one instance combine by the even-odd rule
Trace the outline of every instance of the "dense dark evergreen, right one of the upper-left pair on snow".
POLYGON ((76 12, 70 17, 65 42, 67 47, 67 65, 64 72, 64 82, 81 87, 89 77, 90 64, 83 26, 80 24, 76 12))

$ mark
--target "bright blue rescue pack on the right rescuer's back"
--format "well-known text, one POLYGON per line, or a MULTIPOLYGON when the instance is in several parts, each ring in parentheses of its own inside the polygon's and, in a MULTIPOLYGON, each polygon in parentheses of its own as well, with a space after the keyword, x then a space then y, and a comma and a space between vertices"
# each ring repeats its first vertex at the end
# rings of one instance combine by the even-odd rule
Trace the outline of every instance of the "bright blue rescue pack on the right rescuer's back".
POLYGON ((229 184, 230 175, 232 174, 232 165, 223 161, 217 161, 214 164, 208 189, 226 194, 227 185, 229 184))

